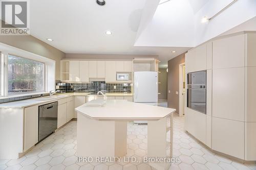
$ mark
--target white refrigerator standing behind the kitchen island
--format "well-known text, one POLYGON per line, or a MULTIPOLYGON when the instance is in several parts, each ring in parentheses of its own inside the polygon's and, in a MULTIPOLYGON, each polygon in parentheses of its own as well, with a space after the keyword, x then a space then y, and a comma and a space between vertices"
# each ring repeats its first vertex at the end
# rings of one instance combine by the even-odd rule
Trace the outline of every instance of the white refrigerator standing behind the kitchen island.
MULTIPOLYGON (((134 72, 133 102, 147 105, 158 105, 158 72, 134 72)), ((137 124, 146 124, 147 121, 134 121, 137 124)))

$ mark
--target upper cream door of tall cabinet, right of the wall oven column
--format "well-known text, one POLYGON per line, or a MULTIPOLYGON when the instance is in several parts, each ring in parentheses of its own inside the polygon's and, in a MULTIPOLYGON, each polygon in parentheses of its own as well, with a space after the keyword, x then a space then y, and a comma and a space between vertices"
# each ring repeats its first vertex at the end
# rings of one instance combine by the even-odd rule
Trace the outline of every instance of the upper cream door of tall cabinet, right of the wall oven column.
POLYGON ((245 35, 212 41, 212 68, 245 66, 245 35))

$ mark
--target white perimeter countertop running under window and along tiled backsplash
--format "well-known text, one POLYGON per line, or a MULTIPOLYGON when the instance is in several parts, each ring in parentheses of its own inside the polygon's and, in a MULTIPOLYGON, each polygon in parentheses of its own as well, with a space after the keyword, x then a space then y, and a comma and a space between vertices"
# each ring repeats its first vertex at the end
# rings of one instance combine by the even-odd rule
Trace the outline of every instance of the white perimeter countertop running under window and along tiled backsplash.
MULTIPOLYGON (((21 100, 16 102, 8 102, 0 104, 0 109, 6 108, 24 108, 34 105, 44 105, 51 102, 56 102, 61 98, 68 98, 69 96, 86 96, 91 95, 90 93, 61 93, 55 94, 52 98, 49 96, 44 96, 41 98, 49 98, 49 100, 40 100, 41 98, 32 98, 27 100, 21 100)), ((106 93, 107 96, 133 96, 133 93, 106 93)))

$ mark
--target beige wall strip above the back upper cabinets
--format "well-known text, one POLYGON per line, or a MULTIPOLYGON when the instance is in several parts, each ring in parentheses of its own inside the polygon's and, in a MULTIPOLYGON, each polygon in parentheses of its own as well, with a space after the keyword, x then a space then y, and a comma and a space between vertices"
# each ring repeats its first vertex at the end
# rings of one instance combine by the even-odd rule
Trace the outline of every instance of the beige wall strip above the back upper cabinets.
POLYGON ((95 59, 95 60, 132 60, 134 58, 156 58, 157 55, 120 55, 120 54, 66 54, 66 59, 95 59))

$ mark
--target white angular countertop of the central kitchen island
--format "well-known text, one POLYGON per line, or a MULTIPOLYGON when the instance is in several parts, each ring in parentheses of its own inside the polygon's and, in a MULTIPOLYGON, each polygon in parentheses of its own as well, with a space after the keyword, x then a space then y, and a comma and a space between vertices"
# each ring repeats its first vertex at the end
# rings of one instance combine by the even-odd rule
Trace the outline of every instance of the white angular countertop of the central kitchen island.
POLYGON ((103 107, 81 105, 75 110, 87 117, 101 120, 158 120, 176 111, 176 109, 127 102, 125 100, 107 100, 103 107))

